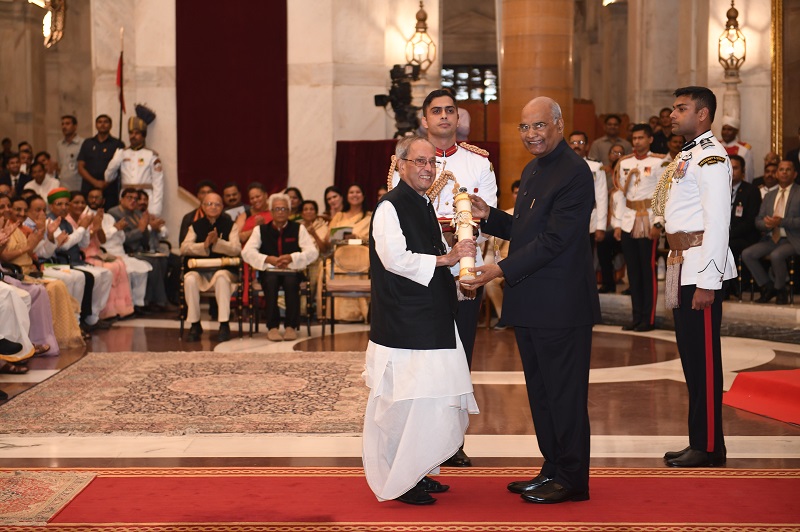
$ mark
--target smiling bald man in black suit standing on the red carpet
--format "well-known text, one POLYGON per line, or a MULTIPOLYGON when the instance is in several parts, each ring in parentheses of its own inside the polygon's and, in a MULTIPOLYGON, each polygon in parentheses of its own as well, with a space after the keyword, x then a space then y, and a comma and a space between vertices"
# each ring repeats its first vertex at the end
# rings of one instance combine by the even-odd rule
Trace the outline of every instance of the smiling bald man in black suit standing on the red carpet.
POLYGON ((533 423, 544 456, 532 480, 508 489, 535 503, 589 498, 589 357, 600 320, 592 250, 586 228, 594 180, 564 140, 561 108, 536 98, 519 127, 536 159, 522 171, 514 215, 472 196, 473 214, 487 234, 510 240, 508 257, 474 271, 478 288, 505 278, 503 321, 514 327, 533 423))

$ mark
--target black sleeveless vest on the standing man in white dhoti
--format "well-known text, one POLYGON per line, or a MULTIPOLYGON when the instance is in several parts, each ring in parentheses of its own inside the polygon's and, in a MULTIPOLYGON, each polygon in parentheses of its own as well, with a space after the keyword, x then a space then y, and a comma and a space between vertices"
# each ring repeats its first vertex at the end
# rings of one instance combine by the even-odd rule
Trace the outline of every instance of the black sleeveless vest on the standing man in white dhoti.
MULTIPOLYGON (((446 253, 436 215, 424 197, 401 180, 381 201, 390 202, 397 211, 409 251, 426 255, 446 253)), ((375 251, 371 224, 369 234, 370 340, 399 349, 455 349, 453 320, 458 301, 450 270, 446 266, 436 268, 428 286, 391 273, 375 251)))

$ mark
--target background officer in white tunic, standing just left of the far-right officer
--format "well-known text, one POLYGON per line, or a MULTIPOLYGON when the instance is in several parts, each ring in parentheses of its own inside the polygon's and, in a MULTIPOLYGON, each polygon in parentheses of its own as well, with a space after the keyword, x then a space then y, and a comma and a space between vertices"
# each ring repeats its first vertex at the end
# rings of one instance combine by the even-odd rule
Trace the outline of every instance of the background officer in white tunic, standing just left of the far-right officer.
POLYGON ((636 124, 632 130, 633 153, 619 160, 615 176, 622 191, 614 203, 614 238, 622 243, 631 291, 632 320, 625 331, 652 331, 656 323, 656 247, 660 227, 653 226, 650 201, 664 172, 664 156, 650 151, 653 130, 636 124))

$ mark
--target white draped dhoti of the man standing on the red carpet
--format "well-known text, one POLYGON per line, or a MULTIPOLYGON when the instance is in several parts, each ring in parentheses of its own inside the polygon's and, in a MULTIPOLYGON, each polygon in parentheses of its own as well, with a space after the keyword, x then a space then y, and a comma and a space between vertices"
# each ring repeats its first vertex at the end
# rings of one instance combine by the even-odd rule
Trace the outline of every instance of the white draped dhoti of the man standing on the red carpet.
POLYGON ((396 499, 428 473, 438 473, 439 464, 464 442, 469 414, 478 413, 455 334, 455 349, 394 349, 369 342, 362 458, 367 483, 380 501, 396 499))

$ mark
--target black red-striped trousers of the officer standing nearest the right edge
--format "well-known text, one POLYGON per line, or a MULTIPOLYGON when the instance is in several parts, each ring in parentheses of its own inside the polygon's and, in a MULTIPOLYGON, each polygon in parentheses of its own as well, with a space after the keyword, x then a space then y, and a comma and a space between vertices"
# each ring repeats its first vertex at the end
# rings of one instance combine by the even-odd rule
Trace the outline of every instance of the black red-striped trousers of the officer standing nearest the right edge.
POLYGON ((689 446, 698 451, 722 449, 722 290, 714 303, 692 310, 695 285, 681 286, 680 308, 673 309, 675 338, 689 388, 689 446))

